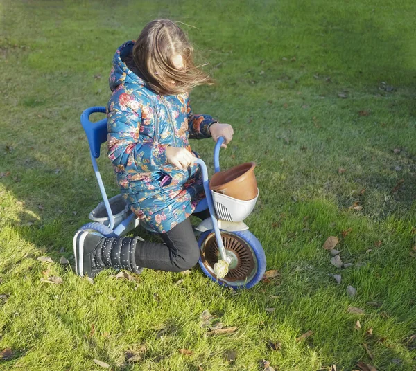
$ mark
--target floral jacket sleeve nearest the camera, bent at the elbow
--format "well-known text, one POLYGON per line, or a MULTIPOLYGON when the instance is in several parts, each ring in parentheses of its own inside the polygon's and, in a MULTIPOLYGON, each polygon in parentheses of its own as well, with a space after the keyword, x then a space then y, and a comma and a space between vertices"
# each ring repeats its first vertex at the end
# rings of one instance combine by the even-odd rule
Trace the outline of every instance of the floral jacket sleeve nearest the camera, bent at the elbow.
POLYGON ((149 105, 132 94, 113 94, 108 106, 108 157, 128 173, 153 172, 166 165, 166 147, 140 138, 142 120, 150 120, 149 105))

